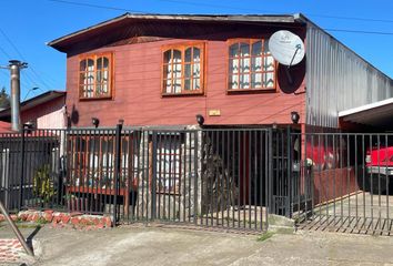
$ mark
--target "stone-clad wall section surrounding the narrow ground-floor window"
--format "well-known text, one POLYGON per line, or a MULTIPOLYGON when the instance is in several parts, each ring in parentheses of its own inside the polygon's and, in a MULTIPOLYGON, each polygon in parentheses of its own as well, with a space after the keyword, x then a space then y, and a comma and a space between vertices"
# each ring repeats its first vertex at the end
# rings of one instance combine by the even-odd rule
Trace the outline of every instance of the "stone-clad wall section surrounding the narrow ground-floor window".
POLYGON ((155 162, 155 145, 152 140, 153 134, 160 132, 143 131, 139 150, 138 208, 133 215, 137 219, 192 222, 200 212, 201 132, 194 130, 195 126, 189 126, 184 131, 172 132, 181 136, 181 175, 179 191, 175 193, 160 192, 157 185, 158 170, 152 165, 155 162))

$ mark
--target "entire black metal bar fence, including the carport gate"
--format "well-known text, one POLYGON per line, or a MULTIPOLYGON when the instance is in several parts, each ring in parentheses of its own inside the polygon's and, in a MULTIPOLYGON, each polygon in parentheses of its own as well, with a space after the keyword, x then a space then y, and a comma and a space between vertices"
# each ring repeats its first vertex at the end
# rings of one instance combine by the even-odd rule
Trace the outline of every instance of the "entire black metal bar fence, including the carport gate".
POLYGON ((71 129, 0 135, 10 211, 109 214, 117 222, 265 231, 390 233, 392 134, 273 129, 71 129))

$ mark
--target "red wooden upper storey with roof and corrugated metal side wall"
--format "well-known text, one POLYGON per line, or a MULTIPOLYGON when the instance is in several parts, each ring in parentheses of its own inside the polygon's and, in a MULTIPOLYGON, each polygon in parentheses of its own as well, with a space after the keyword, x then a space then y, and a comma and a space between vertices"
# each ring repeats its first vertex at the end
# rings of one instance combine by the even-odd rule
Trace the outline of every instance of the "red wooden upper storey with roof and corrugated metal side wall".
POLYGON ((67 53, 67 110, 78 127, 92 117, 194 125, 196 114, 206 126, 286 125, 295 111, 304 132, 337 129, 339 112, 393 96, 389 76, 302 14, 125 13, 49 45, 67 53), (305 43, 292 84, 266 45, 278 30, 305 43))

